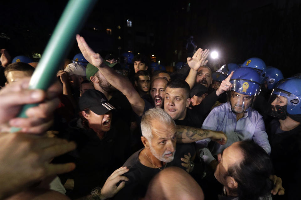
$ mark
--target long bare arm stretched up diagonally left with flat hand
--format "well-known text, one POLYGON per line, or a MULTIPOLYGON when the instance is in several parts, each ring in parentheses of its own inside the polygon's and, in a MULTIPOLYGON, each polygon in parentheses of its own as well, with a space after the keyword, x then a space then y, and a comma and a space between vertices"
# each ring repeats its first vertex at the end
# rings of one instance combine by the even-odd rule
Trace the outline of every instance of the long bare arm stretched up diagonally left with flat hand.
POLYGON ((144 111, 145 103, 129 79, 118 74, 112 68, 106 66, 103 63, 103 58, 88 46, 83 37, 77 35, 76 40, 82 55, 87 59, 87 61, 97 67, 100 73, 102 73, 103 76, 108 80, 108 82, 126 96, 134 112, 138 116, 141 116, 144 111))

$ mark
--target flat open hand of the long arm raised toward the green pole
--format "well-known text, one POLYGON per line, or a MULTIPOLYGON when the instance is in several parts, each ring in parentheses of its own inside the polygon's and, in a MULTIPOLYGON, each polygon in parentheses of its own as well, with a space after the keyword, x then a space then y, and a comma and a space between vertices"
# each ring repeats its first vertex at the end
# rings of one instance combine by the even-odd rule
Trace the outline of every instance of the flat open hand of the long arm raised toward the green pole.
POLYGON ((95 67, 101 67, 103 63, 103 58, 99 55, 99 53, 95 53, 87 44, 85 39, 80 35, 76 35, 76 40, 79 49, 82 52, 82 55, 86 58, 86 60, 94 65, 95 67))

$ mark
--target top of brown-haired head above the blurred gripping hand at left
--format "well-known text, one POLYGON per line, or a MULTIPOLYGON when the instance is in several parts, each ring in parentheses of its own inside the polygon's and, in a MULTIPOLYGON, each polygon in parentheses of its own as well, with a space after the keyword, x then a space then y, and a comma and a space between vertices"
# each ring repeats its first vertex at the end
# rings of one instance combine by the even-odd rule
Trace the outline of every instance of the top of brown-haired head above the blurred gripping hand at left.
POLYGON ((33 73, 34 68, 22 62, 11 63, 4 69, 4 75, 8 84, 18 81, 20 78, 31 77, 33 73))

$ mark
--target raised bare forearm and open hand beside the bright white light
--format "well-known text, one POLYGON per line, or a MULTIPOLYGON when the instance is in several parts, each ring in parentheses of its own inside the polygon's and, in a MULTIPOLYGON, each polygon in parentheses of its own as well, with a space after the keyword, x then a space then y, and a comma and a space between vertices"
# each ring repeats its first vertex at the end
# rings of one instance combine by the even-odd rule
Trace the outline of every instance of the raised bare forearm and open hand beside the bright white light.
POLYGON ((203 49, 199 48, 193 55, 192 58, 187 58, 187 63, 190 67, 189 74, 185 81, 189 84, 190 89, 193 88, 195 84, 195 79, 197 77, 198 69, 201 66, 204 66, 205 64, 208 63, 208 60, 206 58, 209 55, 209 49, 203 49))

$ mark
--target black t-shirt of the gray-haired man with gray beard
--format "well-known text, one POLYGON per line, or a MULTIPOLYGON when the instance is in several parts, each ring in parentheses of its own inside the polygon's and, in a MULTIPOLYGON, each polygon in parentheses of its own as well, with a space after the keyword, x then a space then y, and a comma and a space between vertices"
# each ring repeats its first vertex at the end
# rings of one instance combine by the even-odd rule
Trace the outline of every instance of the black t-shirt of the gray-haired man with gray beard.
MULTIPOLYGON (((129 178, 129 181, 125 182, 125 187, 114 196, 114 199, 139 199, 139 197, 144 197, 148 183, 161 171, 159 168, 149 168, 141 164, 139 161, 141 151, 142 149, 134 153, 124 163, 123 166, 128 167, 129 172, 123 174, 123 176, 129 178)), ((192 156, 195 154, 192 144, 177 144, 175 157, 172 162, 166 164, 166 168, 176 166, 185 169, 181 165, 181 158, 184 158, 184 155, 188 155, 188 153, 192 156)))

